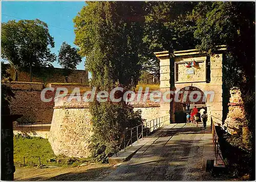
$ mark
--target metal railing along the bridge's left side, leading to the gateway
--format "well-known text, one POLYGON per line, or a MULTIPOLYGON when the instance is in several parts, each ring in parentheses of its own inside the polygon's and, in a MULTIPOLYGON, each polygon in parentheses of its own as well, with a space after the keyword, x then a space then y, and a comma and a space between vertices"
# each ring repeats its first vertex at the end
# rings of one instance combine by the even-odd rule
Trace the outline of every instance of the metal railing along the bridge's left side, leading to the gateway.
POLYGON ((153 119, 151 121, 147 121, 143 124, 140 124, 138 126, 132 127, 130 129, 126 129, 123 132, 123 146, 122 148, 126 149, 127 146, 131 145, 133 146, 133 142, 138 142, 139 139, 143 140, 143 137, 147 137, 147 135, 150 135, 156 129, 163 126, 163 123, 169 120, 169 116, 162 116, 156 119, 153 119))

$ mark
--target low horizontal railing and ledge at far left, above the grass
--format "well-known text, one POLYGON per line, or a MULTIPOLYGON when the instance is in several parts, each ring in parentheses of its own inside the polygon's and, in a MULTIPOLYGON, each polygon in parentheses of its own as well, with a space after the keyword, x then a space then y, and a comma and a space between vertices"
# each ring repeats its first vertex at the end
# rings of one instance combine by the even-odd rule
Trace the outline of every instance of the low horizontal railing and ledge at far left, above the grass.
POLYGON ((26 123, 13 124, 14 131, 32 132, 32 131, 50 131, 51 123, 26 123))

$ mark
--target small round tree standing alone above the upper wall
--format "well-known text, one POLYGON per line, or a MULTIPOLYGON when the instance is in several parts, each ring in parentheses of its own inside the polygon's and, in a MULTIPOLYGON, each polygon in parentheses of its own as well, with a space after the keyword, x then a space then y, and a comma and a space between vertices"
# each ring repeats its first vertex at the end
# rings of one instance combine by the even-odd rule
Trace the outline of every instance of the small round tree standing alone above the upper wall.
POLYGON ((78 48, 63 42, 59 49, 58 63, 65 69, 76 69, 76 66, 81 63, 82 58, 77 53, 78 48))

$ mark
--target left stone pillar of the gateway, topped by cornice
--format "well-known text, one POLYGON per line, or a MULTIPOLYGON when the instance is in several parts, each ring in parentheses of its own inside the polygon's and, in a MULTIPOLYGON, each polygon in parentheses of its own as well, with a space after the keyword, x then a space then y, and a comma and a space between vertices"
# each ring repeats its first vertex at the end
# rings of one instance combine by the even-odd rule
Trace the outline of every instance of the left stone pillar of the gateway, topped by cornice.
MULTIPOLYGON (((170 59, 168 51, 154 53, 160 61, 160 91, 170 91, 170 59)), ((170 94, 167 95, 170 98, 170 94)), ((160 117, 170 115, 170 102, 160 101, 160 117)), ((172 117, 171 117, 172 119, 172 117)))

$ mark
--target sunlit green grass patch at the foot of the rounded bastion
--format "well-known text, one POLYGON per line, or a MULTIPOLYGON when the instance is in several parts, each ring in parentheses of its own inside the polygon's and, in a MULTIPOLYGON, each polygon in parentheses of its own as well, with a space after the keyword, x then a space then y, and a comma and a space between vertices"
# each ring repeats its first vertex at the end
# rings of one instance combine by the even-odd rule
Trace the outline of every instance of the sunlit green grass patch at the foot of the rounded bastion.
POLYGON ((51 145, 47 139, 40 137, 22 137, 15 135, 13 137, 14 144, 14 164, 17 167, 39 166, 39 157, 41 164, 46 166, 78 166, 88 162, 87 159, 70 158, 65 155, 54 155, 51 145))

